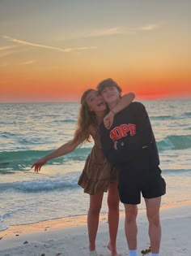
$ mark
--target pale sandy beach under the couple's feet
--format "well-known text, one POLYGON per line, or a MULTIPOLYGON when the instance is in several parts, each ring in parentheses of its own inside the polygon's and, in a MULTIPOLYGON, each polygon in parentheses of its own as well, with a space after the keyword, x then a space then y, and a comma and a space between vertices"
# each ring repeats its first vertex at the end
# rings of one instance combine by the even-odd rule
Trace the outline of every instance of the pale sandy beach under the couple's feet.
MULTIPOLYGON (((1 256, 86 256, 88 255, 87 216, 54 219, 28 225, 10 227, 0 232, 1 256)), ((191 255, 191 202, 162 207, 163 237, 161 256, 191 255)), ((145 210, 138 213, 138 255, 149 246, 145 210)), ((101 215, 97 235, 97 252, 109 256, 107 216, 101 215)), ((124 213, 121 213, 117 248, 121 256, 127 254, 124 233, 124 213)))

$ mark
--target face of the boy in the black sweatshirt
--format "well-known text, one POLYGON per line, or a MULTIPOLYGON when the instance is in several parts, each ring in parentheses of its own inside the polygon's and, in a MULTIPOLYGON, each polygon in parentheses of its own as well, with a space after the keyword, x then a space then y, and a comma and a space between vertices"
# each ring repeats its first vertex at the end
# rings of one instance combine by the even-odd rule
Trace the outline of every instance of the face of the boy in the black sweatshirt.
POLYGON ((117 102, 120 99, 120 93, 115 86, 108 86, 101 92, 106 103, 117 102))

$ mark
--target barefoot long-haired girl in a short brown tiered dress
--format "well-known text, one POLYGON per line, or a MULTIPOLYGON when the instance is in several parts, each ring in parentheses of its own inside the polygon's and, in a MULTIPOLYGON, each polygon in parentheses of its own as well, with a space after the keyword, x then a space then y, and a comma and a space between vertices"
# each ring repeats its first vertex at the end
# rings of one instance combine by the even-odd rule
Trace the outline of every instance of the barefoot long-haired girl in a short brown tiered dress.
POLYGON ((68 154, 85 141, 93 138, 95 145, 88 155, 83 173, 79 177, 79 185, 84 193, 90 194, 90 206, 87 215, 90 255, 96 256, 96 234, 99 224, 100 209, 104 192, 108 191, 108 249, 111 256, 117 256, 117 228, 119 222, 119 196, 117 190, 117 171, 108 163, 101 149, 99 126, 104 120, 107 128, 112 125, 114 115, 128 106, 134 100, 134 93, 125 94, 121 101, 108 112, 108 107, 102 96, 95 89, 87 89, 81 98, 79 120, 74 132, 74 138, 40 158, 32 165, 35 171, 45 165, 50 159, 68 154), (108 115, 106 113, 108 112, 108 115), (115 113, 115 114, 114 114, 115 113), (106 116, 105 116, 106 115, 106 116), (105 116, 105 118, 104 118, 105 116))

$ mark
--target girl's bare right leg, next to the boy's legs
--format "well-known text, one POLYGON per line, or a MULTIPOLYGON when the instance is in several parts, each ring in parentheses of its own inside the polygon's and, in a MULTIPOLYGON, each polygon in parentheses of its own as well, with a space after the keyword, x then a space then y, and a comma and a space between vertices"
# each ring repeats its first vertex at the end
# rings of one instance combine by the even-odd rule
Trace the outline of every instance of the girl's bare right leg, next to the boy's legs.
POLYGON ((108 188, 108 231, 109 242, 108 249, 111 250, 112 256, 117 256, 117 230, 119 224, 119 193, 117 182, 111 183, 108 188))

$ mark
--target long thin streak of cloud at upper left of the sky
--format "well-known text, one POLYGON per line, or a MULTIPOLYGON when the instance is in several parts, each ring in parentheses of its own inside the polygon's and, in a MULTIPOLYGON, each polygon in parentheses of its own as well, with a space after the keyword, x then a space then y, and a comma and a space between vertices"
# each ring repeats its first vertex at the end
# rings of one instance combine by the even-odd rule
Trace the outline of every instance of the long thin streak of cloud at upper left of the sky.
POLYGON ((58 50, 64 53, 69 53, 73 50, 92 50, 92 49, 96 49, 96 46, 85 46, 85 47, 75 47, 75 48, 66 48, 66 49, 62 49, 62 48, 57 48, 57 47, 53 47, 53 46, 45 46, 45 45, 40 45, 40 44, 36 44, 30 41, 23 41, 23 40, 19 40, 16 38, 12 38, 12 37, 7 37, 7 36, 3 36, 3 38, 7 39, 8 41, 13 41, 15 43, 24 45, 24 46, 32 46, 32 47, 40 47, 40 48, 45 48, 45 49, 50 49, 50 50, 58 50))

